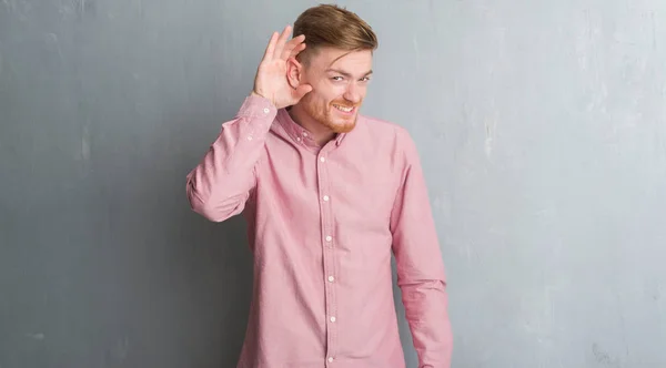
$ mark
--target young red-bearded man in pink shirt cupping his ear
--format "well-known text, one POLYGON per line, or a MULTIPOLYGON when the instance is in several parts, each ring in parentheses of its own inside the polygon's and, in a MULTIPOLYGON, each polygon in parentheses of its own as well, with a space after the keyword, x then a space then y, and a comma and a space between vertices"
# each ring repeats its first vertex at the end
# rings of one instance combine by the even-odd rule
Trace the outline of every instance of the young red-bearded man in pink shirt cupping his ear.
POLYGON ((393 252, 418 367, 448 368, 417 151, 404 129, 359 113, 376 37, 335 6, 306 10, 290 33, 273 33, 252 93, 188 176, 193 211, 249 223, 254 293, 238 367, 405 367, 393 252))

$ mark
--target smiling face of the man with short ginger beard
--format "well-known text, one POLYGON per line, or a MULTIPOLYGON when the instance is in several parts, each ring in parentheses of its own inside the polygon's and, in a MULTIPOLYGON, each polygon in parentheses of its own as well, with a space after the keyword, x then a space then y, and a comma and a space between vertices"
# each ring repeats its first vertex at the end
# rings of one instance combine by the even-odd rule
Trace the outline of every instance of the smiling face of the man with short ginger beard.
POLYGON ((303 64, 301 83, 312 85, 299 104, 335 133, 354 129, 372 73, 372 51, 321 48, 303 64))

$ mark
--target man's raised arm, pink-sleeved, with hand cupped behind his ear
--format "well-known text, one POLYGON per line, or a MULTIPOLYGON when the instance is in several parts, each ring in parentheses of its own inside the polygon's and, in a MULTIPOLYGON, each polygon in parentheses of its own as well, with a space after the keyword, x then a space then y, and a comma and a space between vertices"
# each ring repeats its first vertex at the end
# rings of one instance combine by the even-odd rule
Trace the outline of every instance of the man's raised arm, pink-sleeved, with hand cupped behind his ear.
POLYGON ((273 32, 252 93, 235 119, 222 124, 215 142, 188 175, 190 206, 210 221, 222 222, 243 211, 256 185, 256 164, 278 110, 312 91, 309 84, 287 81, 287 63, 296 64, 295 57, 305 49, 304 35, 286 41, 291 29, 273 32))

